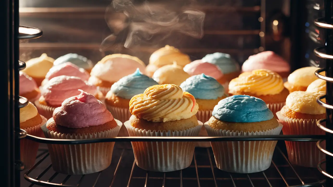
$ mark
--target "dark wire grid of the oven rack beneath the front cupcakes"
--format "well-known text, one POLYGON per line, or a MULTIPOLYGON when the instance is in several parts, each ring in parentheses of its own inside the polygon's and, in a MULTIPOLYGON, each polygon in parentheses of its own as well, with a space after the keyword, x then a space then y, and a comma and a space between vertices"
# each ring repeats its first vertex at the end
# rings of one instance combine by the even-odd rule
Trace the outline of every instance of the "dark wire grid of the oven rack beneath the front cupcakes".
MULTIPOLYGON (((116 143, 117 145, 117 143, 116 143)), ((115 148, 109 168, 88 175, 64 175, 55 172, 47 149, 40 150, 37 163, 25 172, 29 187, 324 187, 324 176, 316 168, 292 166, 279 147, 275 148, 271 166, 258 173, 236 174, 217 169, 211 148, 195 148, 188 168, 174 172, 151 172, 139 168, 132 149, 115 148), (88 178, 90 180, 88 180, 88 178)))

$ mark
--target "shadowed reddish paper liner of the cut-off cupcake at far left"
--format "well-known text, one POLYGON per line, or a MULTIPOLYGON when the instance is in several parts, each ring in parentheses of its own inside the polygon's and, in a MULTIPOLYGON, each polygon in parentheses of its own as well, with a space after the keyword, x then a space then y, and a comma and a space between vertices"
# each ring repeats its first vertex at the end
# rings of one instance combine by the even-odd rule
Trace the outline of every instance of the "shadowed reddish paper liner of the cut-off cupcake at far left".
MULTIPOLYGON (((41 124, 24 129, 25 131, 27 131, 27 134, 38 137, 41 137, 43 135, 41 125, 46 123, 47 119, 42 115, 41 117, 43 120, 41 124)), ((30 169, 35 164, 38 146, 39 143, 33 140, 28 140, 26 138, 20 140, 21 161, 24 163, 25 169, 30 169)))

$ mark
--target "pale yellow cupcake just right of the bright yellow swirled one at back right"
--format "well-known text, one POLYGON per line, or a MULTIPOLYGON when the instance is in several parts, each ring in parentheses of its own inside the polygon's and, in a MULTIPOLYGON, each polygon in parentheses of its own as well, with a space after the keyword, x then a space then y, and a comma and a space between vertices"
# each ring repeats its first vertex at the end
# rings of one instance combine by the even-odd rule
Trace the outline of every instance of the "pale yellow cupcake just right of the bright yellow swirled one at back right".
MULTIPOLYGON (((295 70, 288 76, 288 81, 284 83, 284 87, 290 93, 294 91, 306 91, 310 83, 318 79, 314 74, 318 69, 317 67, 305 67, 295 70)), ((325 72, 320 74, 325 75, 325 72)))

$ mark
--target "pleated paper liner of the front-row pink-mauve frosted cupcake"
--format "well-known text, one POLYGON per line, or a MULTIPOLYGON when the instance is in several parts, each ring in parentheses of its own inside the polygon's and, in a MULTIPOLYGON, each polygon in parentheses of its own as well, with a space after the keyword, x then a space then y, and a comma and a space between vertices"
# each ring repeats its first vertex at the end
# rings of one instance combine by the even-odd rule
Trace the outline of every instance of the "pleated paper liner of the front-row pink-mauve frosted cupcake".
MULTIPOLYGON (((47 129, 46 124, 42 130, 46 138, 51 139, 90 139, 116 137, 122 122, 115 119, 117 126, 113 129, 94 134, 65 134, 47 129)), ((115 142, 90 144, 47 144, 54 171, 68 175, 84 175, 102 171, 111 164, 112 152, 115 142)))

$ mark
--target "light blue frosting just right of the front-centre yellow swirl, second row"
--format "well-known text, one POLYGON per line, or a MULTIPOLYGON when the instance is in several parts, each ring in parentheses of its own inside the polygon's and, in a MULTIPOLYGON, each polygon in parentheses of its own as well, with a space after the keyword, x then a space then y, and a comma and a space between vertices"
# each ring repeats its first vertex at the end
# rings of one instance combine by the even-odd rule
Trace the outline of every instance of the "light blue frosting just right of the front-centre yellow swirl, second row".
POLYGON ((192 76, 183 83, 180 88, 192 94, 196 99, 217 99, 224 95, 224 88, 216 79, 205 74, 192 76))

